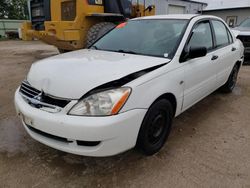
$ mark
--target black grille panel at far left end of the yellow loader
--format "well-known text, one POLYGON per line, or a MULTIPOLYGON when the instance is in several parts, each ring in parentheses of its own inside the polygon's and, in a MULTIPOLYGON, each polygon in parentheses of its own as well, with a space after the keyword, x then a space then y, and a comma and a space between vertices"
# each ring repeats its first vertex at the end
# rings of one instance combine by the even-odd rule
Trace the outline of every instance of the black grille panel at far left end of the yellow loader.
POLYGON ((30 1, 30 13, 32 29, 36 31, 45 30, 44 22, 50 21, 50 0, 30 1))

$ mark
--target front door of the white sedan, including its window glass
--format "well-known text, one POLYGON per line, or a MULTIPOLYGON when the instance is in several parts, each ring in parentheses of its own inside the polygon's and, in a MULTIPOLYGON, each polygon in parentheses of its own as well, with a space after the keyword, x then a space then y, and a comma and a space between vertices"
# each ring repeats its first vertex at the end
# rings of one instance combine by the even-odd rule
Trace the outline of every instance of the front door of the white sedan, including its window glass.
POLYGON ((207 55, 189 59, 184 64, 184 102, 183 111, 215 90, 217 57, 214 55, 214 40, 211 23, 204 20, 197 23, 185 49, 206 47, 207 55))

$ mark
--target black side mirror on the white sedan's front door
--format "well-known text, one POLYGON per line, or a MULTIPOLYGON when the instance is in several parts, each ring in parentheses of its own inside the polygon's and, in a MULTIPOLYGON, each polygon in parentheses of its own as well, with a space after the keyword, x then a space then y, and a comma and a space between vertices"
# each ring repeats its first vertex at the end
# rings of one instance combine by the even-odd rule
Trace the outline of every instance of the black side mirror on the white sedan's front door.
POLYGON ((185 62, 189 59, 204 57, 207 55, 206 47, 190 47, 189 50, 184 50, 181 55, 180 62, 185 62))

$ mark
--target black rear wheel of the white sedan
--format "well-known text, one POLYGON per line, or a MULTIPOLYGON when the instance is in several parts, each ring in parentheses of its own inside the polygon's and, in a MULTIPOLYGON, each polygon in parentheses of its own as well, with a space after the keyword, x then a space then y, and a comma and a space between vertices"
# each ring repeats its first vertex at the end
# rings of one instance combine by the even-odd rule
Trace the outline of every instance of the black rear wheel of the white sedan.
POLYGON ((239 73, 239 66, 235 65, 227 82, 221 87, 221 90, 225 93, 231 93, 236 86, 239 73))

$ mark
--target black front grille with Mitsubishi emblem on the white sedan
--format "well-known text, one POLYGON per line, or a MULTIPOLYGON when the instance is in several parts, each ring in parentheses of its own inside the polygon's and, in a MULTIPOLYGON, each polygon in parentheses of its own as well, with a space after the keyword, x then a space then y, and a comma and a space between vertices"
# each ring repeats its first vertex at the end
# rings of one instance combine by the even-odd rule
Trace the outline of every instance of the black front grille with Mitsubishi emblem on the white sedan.
MULTIPOLYGON (((49 96, 46 93, 32 87, 27 81, 22 82, 20 93, 27 99, 35 99, 36 101, 39 101, 43 104, 53 105, 61 108, 64 108, 70 102, 68 99, 59 99, 49 96)), ((30 105, 37 108, 43 107, 43 104, 40 104, 39 102, 34 104, 32 101, 30 101, 29 103, 30 105)))

